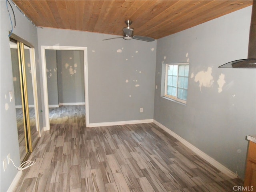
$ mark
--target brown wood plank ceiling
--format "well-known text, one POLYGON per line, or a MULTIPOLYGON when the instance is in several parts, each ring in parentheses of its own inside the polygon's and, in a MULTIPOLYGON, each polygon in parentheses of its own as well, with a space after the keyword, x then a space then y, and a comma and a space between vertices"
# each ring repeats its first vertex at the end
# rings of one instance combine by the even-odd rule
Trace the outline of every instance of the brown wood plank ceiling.
POLYGON ((39 27, 122 35, 132 20, 134 35, 155 39, 252 5, 252 0, 13 0, 39 27))

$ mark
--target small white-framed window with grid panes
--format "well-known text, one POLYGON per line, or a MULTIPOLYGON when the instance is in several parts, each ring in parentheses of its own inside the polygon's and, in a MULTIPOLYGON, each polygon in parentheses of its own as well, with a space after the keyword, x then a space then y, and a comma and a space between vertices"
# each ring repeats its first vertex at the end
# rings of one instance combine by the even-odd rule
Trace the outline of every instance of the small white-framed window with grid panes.
POLYGON ((166 64, 164 96, 186 104, 188 95, 188 63, 166 64))

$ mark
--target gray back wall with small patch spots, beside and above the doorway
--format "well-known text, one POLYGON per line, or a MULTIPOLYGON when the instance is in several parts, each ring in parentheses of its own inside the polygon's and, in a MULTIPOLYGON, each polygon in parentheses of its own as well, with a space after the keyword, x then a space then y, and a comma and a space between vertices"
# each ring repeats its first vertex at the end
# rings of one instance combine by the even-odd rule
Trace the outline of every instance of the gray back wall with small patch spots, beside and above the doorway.
POLYGON ((111 37, 114 36, 38 28, 39 48, 42 45, 88 48, 90 123, 152 119, 156 41, 102 41, 111 37))

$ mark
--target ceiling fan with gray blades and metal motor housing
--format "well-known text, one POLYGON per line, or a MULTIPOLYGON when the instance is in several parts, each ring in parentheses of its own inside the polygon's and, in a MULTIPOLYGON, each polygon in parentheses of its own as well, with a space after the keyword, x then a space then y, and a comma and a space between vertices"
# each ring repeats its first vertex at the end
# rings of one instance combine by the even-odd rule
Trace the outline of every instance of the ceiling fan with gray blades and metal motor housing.
MULTIPOLYGON (((130 27, 130 24, 132 24, 132 21, 126 20, 125 23, 126 23, 127 27, 123 28, 123 36, 122 37, 114 37, 114 38, 110 38, 110 39, 124 38, 125 40, 136 39, 136 40, 142 40, 142 41, 147 41, 147 42, 151 42, 151 41, 155 40, 154 38, 151 38, 151 37, 133 35, 133 28, 130 27)), ((110 40, 110 39, 104 39, 104 40, 110 40)))

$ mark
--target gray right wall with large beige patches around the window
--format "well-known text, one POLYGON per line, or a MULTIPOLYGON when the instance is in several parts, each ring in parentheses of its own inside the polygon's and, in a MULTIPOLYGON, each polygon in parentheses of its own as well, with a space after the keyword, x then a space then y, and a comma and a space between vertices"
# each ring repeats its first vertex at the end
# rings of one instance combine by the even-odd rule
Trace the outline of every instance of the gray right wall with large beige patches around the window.
POLYGON ((247 58, 251 9, 158 39, 156 48, 154 119, 242 178, 245 137, 256 134, 256 70, 218 66, 247 58), (162 98, 160 87, 162 63, 187 61, 184 106, 162 98))

